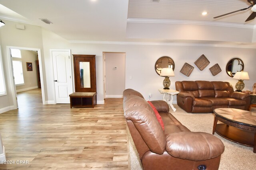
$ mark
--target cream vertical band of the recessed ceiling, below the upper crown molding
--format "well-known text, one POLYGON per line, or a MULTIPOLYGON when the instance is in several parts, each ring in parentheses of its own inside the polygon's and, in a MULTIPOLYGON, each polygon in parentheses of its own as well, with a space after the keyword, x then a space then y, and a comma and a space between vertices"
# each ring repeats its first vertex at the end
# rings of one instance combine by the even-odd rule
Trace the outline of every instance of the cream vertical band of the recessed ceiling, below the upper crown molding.
MULTIPOLYGON (((252 42, 253 27, 240 27, 236 24, 202 25, 184 23, 138 23, 128 22, 126 36, 128 38, 160 39, 160 40, 206 40, 229 42, 252 42), (232 26, 231 26, 232 25, 232 26), (236 25, 236 26, 235 26, 236 25)), ((199 22, 200 23, 200 22, 199 22)), ((207 23, 207 22, 204 22, 207 23)))

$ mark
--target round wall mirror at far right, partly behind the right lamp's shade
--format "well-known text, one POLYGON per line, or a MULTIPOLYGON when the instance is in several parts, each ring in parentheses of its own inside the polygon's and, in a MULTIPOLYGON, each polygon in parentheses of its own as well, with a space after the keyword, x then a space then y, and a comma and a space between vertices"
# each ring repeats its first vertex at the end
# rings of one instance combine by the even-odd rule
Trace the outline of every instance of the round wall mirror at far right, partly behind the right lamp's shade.
POLYGON ((228 61, 226 72, 228 76, 234 77, 236 72, 244 70, 244 62, 239 58, 234 58, 228 61))

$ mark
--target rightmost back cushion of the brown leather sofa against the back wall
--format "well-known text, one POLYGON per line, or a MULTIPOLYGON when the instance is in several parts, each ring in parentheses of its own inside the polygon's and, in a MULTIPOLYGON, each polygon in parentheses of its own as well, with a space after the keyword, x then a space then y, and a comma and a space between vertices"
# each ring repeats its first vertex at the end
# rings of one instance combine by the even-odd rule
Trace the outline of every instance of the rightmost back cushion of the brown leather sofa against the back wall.
MULTIPOLYGON (((230 83, 229 83, 230 84, 230 83)), ((227 82, 213 81, 212 85, 214 87, 215 97, 216 98, 228 98, 230 94, 230 86, 227 82)), ((232 88, 233 89, 233 88, 232 88)))

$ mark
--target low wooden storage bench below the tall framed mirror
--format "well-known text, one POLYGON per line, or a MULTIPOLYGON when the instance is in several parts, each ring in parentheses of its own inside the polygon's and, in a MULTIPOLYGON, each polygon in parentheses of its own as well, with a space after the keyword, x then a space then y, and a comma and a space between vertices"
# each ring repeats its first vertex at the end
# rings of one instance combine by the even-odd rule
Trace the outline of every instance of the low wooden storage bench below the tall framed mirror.
POLYGON ((97 104, 96 92, 74 92, 69 95, 70 108, 72 107, 92 107, 97 104))

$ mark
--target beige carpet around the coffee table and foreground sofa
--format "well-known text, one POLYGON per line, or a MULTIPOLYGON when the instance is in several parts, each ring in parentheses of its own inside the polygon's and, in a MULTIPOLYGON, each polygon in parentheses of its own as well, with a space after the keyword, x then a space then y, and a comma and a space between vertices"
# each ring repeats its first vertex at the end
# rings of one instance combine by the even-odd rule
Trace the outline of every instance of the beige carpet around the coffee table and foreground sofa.
MULTIPOLYGON (((186 113, 186 111, 177 105, 174 105, 174 107, 177 110, 174 112, 170 109, 170 112, 183 125, 188 127, 188 129, 212 134, 214 121, 213 113, 186 113)), ((256 112, 256 107, 252 108, 252 111, 256 112)), ((225 145, 225 151, 221 156, 219 170, 256 170, 256 153, 253 153, 252 147, 246 147, 228 141, 216 133, 214 135, 221 139, 225 145)), ((129 139, 130 168, 131 170, 142 170, 143 168, 138 157, 138 152, 130 136, 129 139)))

